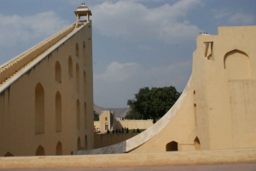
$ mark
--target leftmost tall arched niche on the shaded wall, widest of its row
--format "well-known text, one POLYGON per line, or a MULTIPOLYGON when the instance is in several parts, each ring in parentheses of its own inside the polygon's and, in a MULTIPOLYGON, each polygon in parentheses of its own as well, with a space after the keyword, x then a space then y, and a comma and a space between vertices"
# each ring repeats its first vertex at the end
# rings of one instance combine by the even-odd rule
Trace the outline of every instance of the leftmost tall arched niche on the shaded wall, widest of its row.
POLYGON ((35 88, 35 134, 44 134, 44 88, 41 83, 35 88))

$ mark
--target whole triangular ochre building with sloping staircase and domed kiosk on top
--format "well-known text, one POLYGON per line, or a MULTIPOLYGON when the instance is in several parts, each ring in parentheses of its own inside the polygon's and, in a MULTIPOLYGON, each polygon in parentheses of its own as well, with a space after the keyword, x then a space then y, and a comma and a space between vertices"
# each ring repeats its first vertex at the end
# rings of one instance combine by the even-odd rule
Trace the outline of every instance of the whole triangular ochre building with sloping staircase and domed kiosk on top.
POLYGON ((0 66, 0 156, 93 148, 91 12, 74 13, 74 24, 0 66))

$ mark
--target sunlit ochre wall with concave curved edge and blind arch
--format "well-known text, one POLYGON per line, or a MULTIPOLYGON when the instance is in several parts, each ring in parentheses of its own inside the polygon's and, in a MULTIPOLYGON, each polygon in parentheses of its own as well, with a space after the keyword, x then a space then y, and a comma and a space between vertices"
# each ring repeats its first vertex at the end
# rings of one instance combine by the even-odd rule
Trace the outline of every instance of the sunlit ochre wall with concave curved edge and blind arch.
POLYGON ((218 31, 197 37, 189 93, 175 117, 131 153, 168 151, 172 141, 178 151, 256 146, 256 26, 218 31))

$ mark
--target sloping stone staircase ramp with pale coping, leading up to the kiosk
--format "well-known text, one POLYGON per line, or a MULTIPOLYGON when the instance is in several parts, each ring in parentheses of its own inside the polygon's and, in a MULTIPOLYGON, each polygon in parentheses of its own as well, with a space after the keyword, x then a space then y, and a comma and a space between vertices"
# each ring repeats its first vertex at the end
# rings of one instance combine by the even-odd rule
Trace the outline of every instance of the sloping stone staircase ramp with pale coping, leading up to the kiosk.
POLYGON ((86 22, 81 23, 78 28, 75 28, 76 23, 73 23, 54 36, 47 38, 0 66, 0 94, 6 88, 9 88, 12 83, 15 83, 19 77, 22 77, 27 71, 37 66, 41 60, 44 60, 62 43, 65 43, 68 38, 86 26, 86 24, 86 22))

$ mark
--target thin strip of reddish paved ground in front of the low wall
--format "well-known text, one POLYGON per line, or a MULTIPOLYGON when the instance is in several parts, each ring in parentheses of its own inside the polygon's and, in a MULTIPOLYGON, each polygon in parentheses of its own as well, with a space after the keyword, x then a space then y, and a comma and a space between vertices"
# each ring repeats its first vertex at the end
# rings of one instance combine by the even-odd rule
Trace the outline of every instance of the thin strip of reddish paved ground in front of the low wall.
POLYGON ((256 163, 241 164, 215 164, 215 165, 194 165, 194 166, 163 166, 163 167, 132 167, 132 168, 15 168, 0 169, 1 171, 152 171, 152 170, 170 170, 170 171, 256 171, 256 163))

